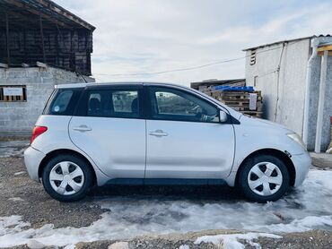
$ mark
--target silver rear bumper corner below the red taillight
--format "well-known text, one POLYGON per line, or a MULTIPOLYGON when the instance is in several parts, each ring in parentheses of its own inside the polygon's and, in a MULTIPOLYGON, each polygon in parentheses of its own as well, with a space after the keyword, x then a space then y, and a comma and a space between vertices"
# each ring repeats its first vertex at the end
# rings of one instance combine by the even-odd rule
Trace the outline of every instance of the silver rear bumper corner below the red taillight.
POLYGON ((45 154, 39 150, 32 148, 31 146, 24 150, 24 164, 28 170, 28 174, 32 180, 39 182, 39 165, 42 159, 45 158, 45 154))

